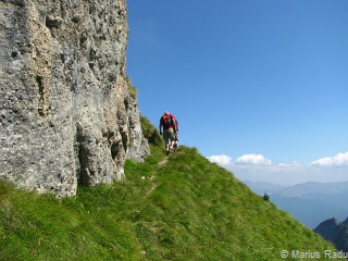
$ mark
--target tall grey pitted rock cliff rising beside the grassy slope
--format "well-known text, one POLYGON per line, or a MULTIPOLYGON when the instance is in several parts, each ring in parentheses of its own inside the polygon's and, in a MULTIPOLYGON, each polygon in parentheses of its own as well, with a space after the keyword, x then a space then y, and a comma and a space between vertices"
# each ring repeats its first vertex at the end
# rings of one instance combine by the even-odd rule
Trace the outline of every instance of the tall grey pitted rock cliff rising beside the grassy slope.
POLYGON ((59 197, 123 178, 139 128, 126 11, 124 0, 0 2, 0 178, 59 197))

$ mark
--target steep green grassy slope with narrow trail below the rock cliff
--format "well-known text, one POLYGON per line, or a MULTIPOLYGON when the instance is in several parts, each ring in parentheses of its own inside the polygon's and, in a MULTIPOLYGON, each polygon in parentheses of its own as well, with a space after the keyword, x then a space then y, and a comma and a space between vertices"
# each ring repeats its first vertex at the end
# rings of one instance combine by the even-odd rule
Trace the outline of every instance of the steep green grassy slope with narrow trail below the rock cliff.
POLYGON ((74 198, 0 183, 0 260, 282 260, 283 249, 334 250, 197 149, 182 146, 159 164, 163 148, 127 161, 125 181, 74 198))

